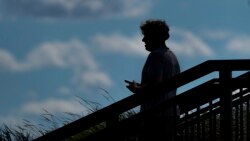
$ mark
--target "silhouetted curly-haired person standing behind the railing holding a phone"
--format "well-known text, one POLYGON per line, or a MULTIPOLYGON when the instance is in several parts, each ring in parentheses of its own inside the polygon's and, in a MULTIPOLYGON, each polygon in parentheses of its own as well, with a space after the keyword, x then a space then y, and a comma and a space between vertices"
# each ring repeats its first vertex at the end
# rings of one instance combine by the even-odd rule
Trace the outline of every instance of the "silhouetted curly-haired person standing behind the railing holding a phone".
MULTIPOLYGON (((141 24, 140 29, 144 36, 142 41, 150 54, 142 70, 141 83, 125 80, 128 83, 127 88, 133 93, 146 93, 151 87, 180 73, 176 56, 165 44, 165 41, 169 38, 169 27, 166 22, 163 20, 147 20, 141 24)), ((176 96, 176 90, 161 93, 152 90, 150 93, 158 96, 143 103, 141 111, 150 109, 176 96)), ((140 140, 174 140, 174 126, 177 116, 178 109, 176 106, 155 115, 146 116, 143 120, 140 140)))

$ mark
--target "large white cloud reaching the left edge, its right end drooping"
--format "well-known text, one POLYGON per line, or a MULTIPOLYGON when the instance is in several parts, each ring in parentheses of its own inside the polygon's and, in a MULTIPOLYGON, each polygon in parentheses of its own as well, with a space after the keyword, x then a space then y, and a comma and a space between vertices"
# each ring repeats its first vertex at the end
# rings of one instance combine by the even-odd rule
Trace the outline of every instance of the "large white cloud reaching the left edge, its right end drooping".
POLYGON ((77 39, 72 39, 69 42, 43 43, 27 53, 26 57, 20 61, 10 52, 0 50, 0 68, 2 70, 26 72, 51 66, 72 70, 74 72, 73 79, 82 79, 80 84, 98 84, 103 87, 112 84, 109 76, 99 69, 98 63, 94 60, 86 45, 77 39), (92 72, 91 75, 94 76, 94 81, 88 83, 89 78, 82 76, 85 76, 90 71, 92 72))

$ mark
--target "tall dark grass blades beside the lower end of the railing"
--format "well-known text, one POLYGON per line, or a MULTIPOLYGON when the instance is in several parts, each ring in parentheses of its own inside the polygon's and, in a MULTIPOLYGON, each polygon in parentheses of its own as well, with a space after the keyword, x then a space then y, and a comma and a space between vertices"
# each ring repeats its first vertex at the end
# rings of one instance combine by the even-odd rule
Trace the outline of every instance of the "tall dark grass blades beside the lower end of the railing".
MULTIPOLYGON (((110 103, 115 102, 114 98, 105 89, 100 88, 104 94, 102 96, 110 103)), ((24 119, 20 125, 14 127, 3 123, 0 125, 0 141, 31 141, 39 136, 53 131, 59 127, 69 124, 81 117, 84 117, 90 113, 93 113, 102 108, 102 105, 98 102, 84 99, 80 96, 75 96, 77 102, 79 102, 84 108, 87 108, 85 114, 76 114, 71 112, 63 112, 61 116, 50 113, 48 110, 43 109, 43 113, 40 114, 40 123, 32 122, 28 119, 24 119)), ((129 111, 122 117, 125 118, 132 115, 133 111, 129 111)), ((103 128, 104 125, 98 125, 93 127, 85 133, 81 133, 77 136, 67 139, 67 141, 75 141, 85 134, 91 134, 96 130, 103 128)))

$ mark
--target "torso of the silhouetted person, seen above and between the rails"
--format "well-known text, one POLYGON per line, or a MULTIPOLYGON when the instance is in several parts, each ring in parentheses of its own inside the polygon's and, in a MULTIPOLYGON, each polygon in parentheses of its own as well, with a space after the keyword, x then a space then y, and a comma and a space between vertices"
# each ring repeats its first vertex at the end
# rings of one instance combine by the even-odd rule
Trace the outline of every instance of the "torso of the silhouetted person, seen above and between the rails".
MULTIPOLYGON (((156 73, 158 71, 162 72, 161 74, 162 82, 167 81, 169 78, 180 73, 179 62, 176 56, 173 54, 173 52, 168 48, 160 48, 149 54, 142 70, 141 83, 143 84, 147 83, 147 81, 150 81, 149 77, 151 77, 152 73, 156 73), (155 63, 154 61, 160 61, 160 62, 155 63), (157 65, 151 65, 151 64, 157 64, 157 65), (156 69, 160 70, 155 71, 156 69)), ((170 92, 164 92, 164 94, 154 94, 154 95, 159 95, 159 96, 142 104, 141 106, 142 110, 151 108, 152 106, 155 106, 165 100, 175 97, 176 90, 170 92)), ((174 112, 175 108, 172 108, 169 109, 167 113, 170 114, 174 112)))

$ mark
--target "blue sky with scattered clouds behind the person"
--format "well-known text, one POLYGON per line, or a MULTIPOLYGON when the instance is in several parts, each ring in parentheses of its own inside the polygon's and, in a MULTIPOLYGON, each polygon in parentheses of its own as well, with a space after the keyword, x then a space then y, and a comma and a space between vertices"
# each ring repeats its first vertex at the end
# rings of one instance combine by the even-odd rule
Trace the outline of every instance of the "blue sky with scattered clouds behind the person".
POLYGON ((146 19, 167 21, 166 44, 182 71, 210 59, 248 59, 249 3, 0 0, 0 124, 35 120, 43 109, 83 114, 76 96, 104 107, 131 95, 124 80, 140 81, 146 19))

